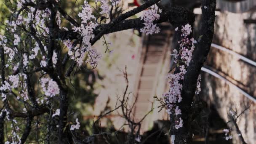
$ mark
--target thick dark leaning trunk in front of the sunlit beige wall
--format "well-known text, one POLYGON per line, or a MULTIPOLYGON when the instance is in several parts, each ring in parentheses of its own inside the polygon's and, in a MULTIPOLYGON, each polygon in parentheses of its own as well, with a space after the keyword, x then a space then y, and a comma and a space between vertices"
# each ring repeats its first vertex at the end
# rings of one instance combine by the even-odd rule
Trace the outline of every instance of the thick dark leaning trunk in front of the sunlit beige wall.
MULTIPOLYGON (((181 104, 179 104, 182 112, 181 118, 183 120, 183 127, 177 130, 174 127, 174 120, 171 119, 171 135, 175 135, 175 144, 192 143, 191 113, 193 109, 191 109, 191 104, 195 95, 197 77, 199 76, 201 67, 207 58, 213 40, 215 5, 215 0, 202 1, 203 23, 200 29, 200 37, 197 40, 197 46, 193 52, 192 60, 187 68, 187 73, 185 74, 181 93, 182 101, 181 104), (207 8, 204 8, 204 6, 207 8)), ((179 24, 175 25, 178 26, 179 24)))

